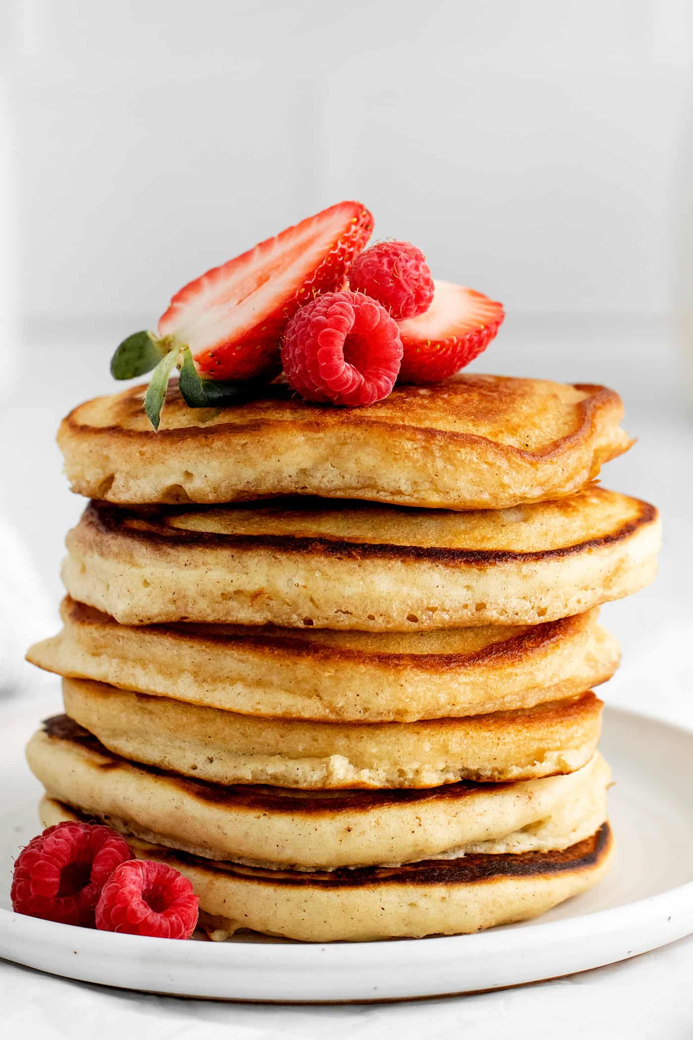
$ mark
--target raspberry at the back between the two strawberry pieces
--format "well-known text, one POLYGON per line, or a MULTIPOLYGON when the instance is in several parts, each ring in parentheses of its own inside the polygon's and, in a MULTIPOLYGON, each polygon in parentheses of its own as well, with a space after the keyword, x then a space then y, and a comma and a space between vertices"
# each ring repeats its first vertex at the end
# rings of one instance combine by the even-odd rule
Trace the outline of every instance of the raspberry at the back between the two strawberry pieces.
POLYGON ((411 242, 379 242, 357 256, 349 281, 387 308, 397 321, 428 311, 433 279, 426 257, 411 242))

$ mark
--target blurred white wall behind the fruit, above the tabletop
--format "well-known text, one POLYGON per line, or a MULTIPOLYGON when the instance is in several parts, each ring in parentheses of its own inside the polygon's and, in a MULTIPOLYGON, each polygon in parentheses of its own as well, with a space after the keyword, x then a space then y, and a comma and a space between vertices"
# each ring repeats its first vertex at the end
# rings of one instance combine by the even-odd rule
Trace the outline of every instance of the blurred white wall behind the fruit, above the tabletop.
POLYGON ((344 197, 511 312, 665 313, 692 27, 687 0, 5 0, 21 313, 151 323, 344 197))

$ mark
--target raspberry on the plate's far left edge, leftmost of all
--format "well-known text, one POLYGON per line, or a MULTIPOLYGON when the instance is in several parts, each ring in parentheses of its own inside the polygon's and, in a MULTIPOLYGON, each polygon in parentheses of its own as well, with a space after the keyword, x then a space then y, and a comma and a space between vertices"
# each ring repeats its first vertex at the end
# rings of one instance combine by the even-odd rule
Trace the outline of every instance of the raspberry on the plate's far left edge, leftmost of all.
POLYGON ((17 858, 12 908, 29 917, 94 928, 101 889, 131 855, 109 827, 70 821, 48 827, 17 858))

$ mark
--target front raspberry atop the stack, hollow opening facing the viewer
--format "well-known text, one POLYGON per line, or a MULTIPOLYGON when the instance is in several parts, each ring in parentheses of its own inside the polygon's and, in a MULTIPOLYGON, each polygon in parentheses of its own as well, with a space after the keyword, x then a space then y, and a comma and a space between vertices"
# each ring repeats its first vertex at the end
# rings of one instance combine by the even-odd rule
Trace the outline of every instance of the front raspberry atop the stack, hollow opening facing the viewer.
POLYGON ((391 392, 401 361, 396 322, 360 292, 318 296, 284 331, 284 373, 306 400, 373 405, 391 392))

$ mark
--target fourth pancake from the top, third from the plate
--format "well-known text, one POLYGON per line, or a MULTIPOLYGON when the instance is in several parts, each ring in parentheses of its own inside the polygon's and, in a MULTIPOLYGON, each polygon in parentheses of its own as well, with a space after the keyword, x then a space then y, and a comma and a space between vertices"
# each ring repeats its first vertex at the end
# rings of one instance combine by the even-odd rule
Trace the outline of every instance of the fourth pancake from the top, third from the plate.
POLYGON ((66 713, 119 755, 213 783, 436 787, 572 773, 596 748, 592 693, 516 711, 411 723, 256 719, 63 679, 66 713))

